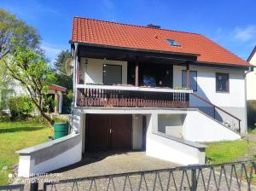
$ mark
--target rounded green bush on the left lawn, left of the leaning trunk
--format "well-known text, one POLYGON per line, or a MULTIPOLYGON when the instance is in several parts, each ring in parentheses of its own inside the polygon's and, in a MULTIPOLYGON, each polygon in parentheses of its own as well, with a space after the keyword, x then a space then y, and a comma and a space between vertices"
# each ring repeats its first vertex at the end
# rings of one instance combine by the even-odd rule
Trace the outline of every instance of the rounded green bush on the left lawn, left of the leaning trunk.
POLYGON ((11 97, 8 107, 12 120, 27 119, 34 111, 34 106, 28 96, 11 97))

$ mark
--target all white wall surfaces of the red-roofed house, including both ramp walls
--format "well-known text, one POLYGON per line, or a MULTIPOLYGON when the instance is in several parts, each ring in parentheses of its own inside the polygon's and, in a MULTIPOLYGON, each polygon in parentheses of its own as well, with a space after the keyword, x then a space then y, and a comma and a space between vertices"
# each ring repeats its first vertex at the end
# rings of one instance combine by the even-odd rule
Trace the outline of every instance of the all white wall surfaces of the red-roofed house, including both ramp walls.
MULTIPOLYGON (((122 84, 127 84, 127 62, 125 61, 105 61, 99 59, 81 59, 80 81, 82 84, 76 85, 83 88, 84 82, 88 84, 102 84, 103 65, 113 64, 122 66, 122 84)), ((173 66, 173 87, 182 86, 182 70, 184 67, 173 66)), ((242 119, 242 131, 246 131, 246 99, 245 99, 245 75, 242 70, 220 69, 210 67, 190 67, 191 71, 197 71, 197 91, 195 94, 212 102, 218 107, 229 109, 230 113, 238 114, 242 119), (230 92, 218 93, 215 90, 216 72, 230 74, 230 92), (238 113, 236 113, 238 111, 238 113)), ((107 87, 107 86, 106 86, 107 87)), ((89 87, 90 88, 90 87, 89 87)), ((101 88, 101 87, 99 87, 101 88)), ((109 86, 109 90, 114 88, 125 88, 131 90, 151 91, 133 86, 109 86)), ((91 88, 93 89, 93 87, 91 88)), ((154 89, 166 93, 191 90, 154 89)), ((208 114, 208 107, 204 102, 196 100, 190 96, 190 107, 198 107, 206 110, 202 113, 197 108, 150 108, 150 107, 75 107, 71 119, 73 135, 63 140, 55 140, 56 144, 43 144, 20 151, 19 176, 28 177, 30 173, 52 171, 65 165, 71 165, 81 159, 85 152, 86 144, 86 114, 129 114, 131 121, 131 148, 143 148, 143 118, 146 118, 146 154, 149 156, 165 159, 181 165, 204 164, 205 146, 198 142, 218 142, 224 140, 237 140, 241 136, 235 131, 212 119, 208 114), (207 114, 206 114, 207 113, 207 114), (57 144, 58 143, 58 144, 57 144), (62 144, 65 145, 61 146, 62 144), (65 148, 65 149, 63 149, 65 148), (49 150, 52 152, 49 153, 49 150), (47 153, 49 154, 44 154, 47 153), (50 154, 54 153, 54 156, 50 154), (43 157, 44 156, 44 157, 43 157), (43 158, 42 158, 43 157, 43 158), (65 160, 60 161, 64 157, 65 160), (42 158, 42 159, 41 159, 42 158), (36 160, 37 162, 35 162, 36 160)), ((220 117, 221 114, 219 114, 220 117)), ((52 142, 53 143, 53 142, 52 142)))

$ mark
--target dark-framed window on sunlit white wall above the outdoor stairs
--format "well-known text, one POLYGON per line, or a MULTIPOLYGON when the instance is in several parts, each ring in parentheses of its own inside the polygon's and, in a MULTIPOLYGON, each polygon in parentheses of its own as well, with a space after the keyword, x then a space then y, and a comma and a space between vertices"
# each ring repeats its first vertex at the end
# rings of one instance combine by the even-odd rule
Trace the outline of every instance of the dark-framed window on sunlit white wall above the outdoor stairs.
POLYGON ((216 91, 230 91, 230 75, 228 73, 216 73, 216 91))

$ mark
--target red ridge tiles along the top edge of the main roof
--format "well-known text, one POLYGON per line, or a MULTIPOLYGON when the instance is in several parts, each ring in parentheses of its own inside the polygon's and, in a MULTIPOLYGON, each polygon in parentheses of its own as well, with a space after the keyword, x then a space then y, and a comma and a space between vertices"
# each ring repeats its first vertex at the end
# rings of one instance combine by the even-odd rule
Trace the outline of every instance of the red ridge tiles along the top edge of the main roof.
POLYGON ((82 17, 82 16, 74 16, 74 17, 73 17, 73 20, 74 20, 75 18, 77 18, 77 19, 83 19, 83 20, 95 20, 95 21, 101 21, 101 22, 108 22, 108 23, 113 23, 113 24, 122 25, 122 26, 137 26, 137 27, 143 27, 143 28, 150 28, 150 29, 153 29, 153 30, 168 31, 168 32, 181 32, 181 33, 188 33, 188 34, 195 34, 195 35, 200 35, 200 36, 202 36, 202 34, 196 33, 196 32, 183 32, 183 31, 177 31, 177 30, 165 29, 165 28, 153 28, 153 27, 149 27, 149 26, 139 26, 139 25, 121 23, 121 22, 116 22, 116 21, 91 19, 91 18, 86 18, 86 17, 82 17))

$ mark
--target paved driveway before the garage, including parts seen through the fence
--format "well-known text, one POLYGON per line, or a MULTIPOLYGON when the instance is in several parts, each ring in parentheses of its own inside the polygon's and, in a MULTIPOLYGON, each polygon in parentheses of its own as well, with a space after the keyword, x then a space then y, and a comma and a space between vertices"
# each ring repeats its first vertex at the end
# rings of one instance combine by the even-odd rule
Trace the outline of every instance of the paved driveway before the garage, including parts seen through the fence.
MULTIPOLYGON (((131 171, 149 171, 149 170, 158 170, 158 169, 167 169, 177 166, 177 164, 173 164, 170 162, 166 162, 160 159, 154 159, 145 155, 144 152, 127 152, 127 153, 95 153, 95 154, 87 154, 84 155, 84 159, 76 165, 71 165, 66 168, 62 168, 58 171, 53 171, 53 173, 58 173, 60 177, 41 177, 41 181, 45 181, 47 179, 68 179, 68 178, 79 178, 79 177, 94 177, 108 174, 116 174, 123 172, 131 172, 131 171)), ((237 166, 239 169, 239 166, 237 166)), ((230 169, 229 167, 225 169, 227 172, 227 177, 230 177, 230 169)), ((210 171, 209 169, 203 170, 204 180, 206 185, 208 184, 210 171)), ((168 182, 169 189, 168 190, 177 190, 181 188, 181 190, 189 190, 189 182, 191 180, 191 171, 187 171, 187 176, 183 171, 174 171, 173 177, 175 179, 175 183, 173 182, 172 177, 170 176, 169 171, 162 171, 155 176, 155 173, 146 173, 142 178, 140 174, 132 175, 129 177, 131 181, 131 187, 129 182, 125 184, 125 177, 113 177, 113 181, 110 180, 108 185, 108 178, 96 179, 96 182, 93 182, 91 190, 106 190, 109 186, 108 190, 123 190, 124 184, 125 190, 138 190, 139 185, 141 185, 139 190, 166 190, 168 182), (142 180, 142 182, 141 182, 142 180), (182 181, 183 180, 183 181, 182 181), (140 184, 141 182, 141 184, 140 184), (154 184, 155 182, 155 184, 154 184), (183 182, 183 183, 182 183, 183 182), (154 186, 155 185, 155 186, 154 186), (132 189, 131 189, 132 188, 132 189)), ((215 171, 216 182, 219 182, 219 169, 215 171)), ((128 181, 128 180, 127 180, 128 181)), ((229 182, 229 180, 228 180, 229 182)), ((244 181, 243 181, 244 182, 244 181)), ((80 181, 75 184, 73 182, 70 183, 61 183, 56 184, 55 187, 51 188, 49 185, 47 190, 89 190, 91 181, 80 181), (55 189, 56 188, 56 189, 55 189)), ((213 177, 210 179, 209 190, 216 190, 215 182, 213 177)), ((28 186, 26 185, 26 189, 28 186)), ((39 184, 39 188, 43 188, 42 183, 39 184)), ((199 178, 198 189, 204 190, 202 178, 199 178)), ((225 182, 224 177, 221 178, 220 181, 220 190, 228 190, 227 184, 225 182)), ((236 180, 233 179, 231 190, 238 190, 236 180)), ((241 190, 247 190, 247 184, 243 183, 241 190)), ((255 190, 254 188, 252 190, 255 190)))

